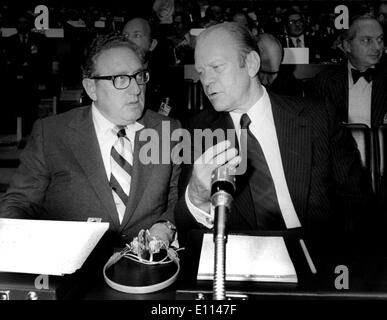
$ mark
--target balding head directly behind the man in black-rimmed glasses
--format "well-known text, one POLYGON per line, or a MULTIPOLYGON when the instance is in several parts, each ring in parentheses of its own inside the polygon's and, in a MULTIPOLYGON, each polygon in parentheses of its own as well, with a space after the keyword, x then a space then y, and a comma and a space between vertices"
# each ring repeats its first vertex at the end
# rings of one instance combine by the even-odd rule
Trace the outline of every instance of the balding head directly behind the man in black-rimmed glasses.
POLYGON ((143 18, 129 20, 122 33, 144 50, 144 52, 153 51, 157 45, 157 40, 152 37, 150 23, 143 18))

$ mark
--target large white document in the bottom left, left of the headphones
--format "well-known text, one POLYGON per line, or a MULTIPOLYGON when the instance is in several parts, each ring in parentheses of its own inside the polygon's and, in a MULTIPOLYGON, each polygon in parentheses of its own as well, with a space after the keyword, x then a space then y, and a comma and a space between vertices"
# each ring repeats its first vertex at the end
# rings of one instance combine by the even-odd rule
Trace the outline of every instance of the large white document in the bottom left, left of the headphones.
POLYGON ((0 219, 0 271, 74 273, 108 228, 106 222, 0 219))

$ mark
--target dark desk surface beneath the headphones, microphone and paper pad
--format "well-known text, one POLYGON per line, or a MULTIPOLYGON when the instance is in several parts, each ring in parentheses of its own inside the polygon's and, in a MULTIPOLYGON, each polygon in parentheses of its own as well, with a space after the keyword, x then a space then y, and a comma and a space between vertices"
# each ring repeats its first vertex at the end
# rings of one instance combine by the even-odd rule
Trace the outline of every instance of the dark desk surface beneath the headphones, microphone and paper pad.
MULTIPOLYGON (((196 233, 194 238, 198 240, 200 234, 196 233)), ((285 241, 288 245, 288 241, 286 239, 285 241)), ((201 294, 202 297, 210 300, 212 299, 212 282, 196 281, 198 261, 193 261, 198 258, 195 256, 195 251, 197 253, 199 247, 200 241, 197 241, 196 247, 193 250, 187 250, 182 255, 182 272, 179 279, 175 284, 162 291, 145 295, 121 293, 108 287, 104 283, 101 274, 100 279, 95 281, 87 290, 84 298, 87 300, 194 300, 201 294)), ((298 284, 227 282, 227 295, 236 298, 243 297, 248 300, 387 300, 386 255, 370 254, 369 256, 361 257, 332 256, 329 258, 319 258, 312 254, 317 268, 317 275, 312 275, 308 271, 309 267, 306 261, 300 262, 301 251, 291 252, 289 250, 289 252, 292 260, 296 260, 298 284), (335 287, 335 280, 342 274, 342 272, 335 273, 335 268, 340 265, 348 267, 349 289, 340 290, 335 287)), ((337 281, 340 281, 340 279, 337 281)))

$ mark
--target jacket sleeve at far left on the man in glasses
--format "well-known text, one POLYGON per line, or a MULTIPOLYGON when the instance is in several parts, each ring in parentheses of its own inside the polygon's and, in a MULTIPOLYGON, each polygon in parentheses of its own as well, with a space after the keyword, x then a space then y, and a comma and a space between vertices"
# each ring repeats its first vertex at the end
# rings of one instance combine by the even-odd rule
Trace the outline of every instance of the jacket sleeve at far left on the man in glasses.
POLYGON ((42 202, 50 181, 43 145, 43 125, 38 120, 20 155, 20 165, 10 187, 1 199, 1 217, 38 219, 42 213, 42 202))

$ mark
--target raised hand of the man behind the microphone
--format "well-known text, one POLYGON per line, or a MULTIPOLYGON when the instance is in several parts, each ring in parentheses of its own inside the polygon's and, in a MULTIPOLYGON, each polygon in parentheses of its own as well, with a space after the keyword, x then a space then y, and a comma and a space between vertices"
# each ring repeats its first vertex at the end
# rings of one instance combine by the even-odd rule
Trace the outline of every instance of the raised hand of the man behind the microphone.
POLYGON ((240 163, 238 150, 230 148, 228 140, 208 148, 193 165, 192 176, 188 184, 188 197, 196 207, 209 212, 211 196, 211 174, 216 168, 227 166, 230 169, 240 163))

